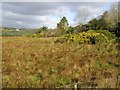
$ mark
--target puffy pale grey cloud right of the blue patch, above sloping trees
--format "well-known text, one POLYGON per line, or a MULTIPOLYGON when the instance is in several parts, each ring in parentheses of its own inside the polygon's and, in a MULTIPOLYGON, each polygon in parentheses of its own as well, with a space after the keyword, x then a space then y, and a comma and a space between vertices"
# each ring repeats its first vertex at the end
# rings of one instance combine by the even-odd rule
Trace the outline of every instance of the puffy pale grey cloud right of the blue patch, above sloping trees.
POLYGON ((75 20, 79 22, 87 22, 92 18, 96 18, 97 16, 101 15, 103 12, 104 10, 102 10, 100 7, 93 8, 92 6, 82 5, 78 7, 75 20))

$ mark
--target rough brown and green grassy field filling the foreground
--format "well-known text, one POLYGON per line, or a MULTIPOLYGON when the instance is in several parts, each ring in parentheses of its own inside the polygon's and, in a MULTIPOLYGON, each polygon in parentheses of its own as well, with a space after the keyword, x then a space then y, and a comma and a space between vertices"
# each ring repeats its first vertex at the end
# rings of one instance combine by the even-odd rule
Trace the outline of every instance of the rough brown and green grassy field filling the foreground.
POLYGON ((118 86, 118 43, 54 43, 56 38, 3 37, 3 87, 118 86))

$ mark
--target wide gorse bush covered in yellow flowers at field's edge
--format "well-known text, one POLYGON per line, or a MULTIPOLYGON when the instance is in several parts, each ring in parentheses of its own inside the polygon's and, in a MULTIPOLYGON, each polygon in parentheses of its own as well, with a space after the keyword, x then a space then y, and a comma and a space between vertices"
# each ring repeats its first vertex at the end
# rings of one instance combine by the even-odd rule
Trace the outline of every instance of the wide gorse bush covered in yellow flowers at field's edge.
POLYGON ((87 44, 96 44, 101 42, 108 42, 107 36, 102 33, 97 33, 93 30, 89 30, 87 32, 82 32, 79 34, 66 34, 58 38, 55 42, 75 42, 79 44, 87 43, 87 44))

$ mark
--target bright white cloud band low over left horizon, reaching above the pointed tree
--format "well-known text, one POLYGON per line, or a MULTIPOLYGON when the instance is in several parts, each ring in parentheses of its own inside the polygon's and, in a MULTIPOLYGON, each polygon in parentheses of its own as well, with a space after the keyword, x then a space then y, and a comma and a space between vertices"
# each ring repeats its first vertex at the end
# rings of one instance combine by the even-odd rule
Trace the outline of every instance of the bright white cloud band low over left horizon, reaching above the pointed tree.
MULTIPOLYGON (((45 15, 26 15, 26 14, 19 14, 12 11, 3 11, 3 25, 5 25, 6 21, 7 23, 16 23, 16 26, 22 27, 22 26, 29 26, 30 28, 35 25, 37 28, 41 27, 43 25, 48 26, 50 28, 56 27, 56 24, 58 23, 59 19, 58 17, 66 16, 69 13, 69 9, 67 7, 58 7, 56 9, 53 9, 53 15, 51 14, 45 14, 45 15), (57 19, 56 19, 57 18, 57 19), (31 23, 32 26, 31 26, 31 23)), ((7 24, 8 25, 8 24, 7 24)))

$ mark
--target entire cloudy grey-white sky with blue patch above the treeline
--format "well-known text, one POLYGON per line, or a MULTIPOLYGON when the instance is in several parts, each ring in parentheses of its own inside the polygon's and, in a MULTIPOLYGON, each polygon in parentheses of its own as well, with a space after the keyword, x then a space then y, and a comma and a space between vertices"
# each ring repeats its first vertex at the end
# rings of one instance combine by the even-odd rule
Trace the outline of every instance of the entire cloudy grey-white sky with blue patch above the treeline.
MULTIPOLYGON (((55 28, 63 16, 71 26, 87 21, 109 10, 112 2, 2 2, 2 26, 55 28)), ((0 10, 1 12, 1 10, 0 10)))

